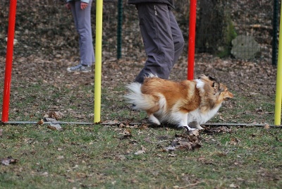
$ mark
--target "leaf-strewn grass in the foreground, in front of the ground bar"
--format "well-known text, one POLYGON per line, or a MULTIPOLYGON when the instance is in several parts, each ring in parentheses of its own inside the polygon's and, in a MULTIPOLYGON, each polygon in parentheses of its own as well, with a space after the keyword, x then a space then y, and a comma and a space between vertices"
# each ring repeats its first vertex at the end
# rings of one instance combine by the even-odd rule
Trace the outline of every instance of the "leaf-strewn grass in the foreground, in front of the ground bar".
POLYGON ((162 152, 183 133, 173 128, 114 126, 11 126, 4 128, 1 157, 18 163, 0 168, 0 188, 281 188, 280 129, 232 128, 202 133, 197 151, 162 152), (148 142, 149 141, 149 142, 148 142), (144 154, 135 152, 145 149, 144 154))

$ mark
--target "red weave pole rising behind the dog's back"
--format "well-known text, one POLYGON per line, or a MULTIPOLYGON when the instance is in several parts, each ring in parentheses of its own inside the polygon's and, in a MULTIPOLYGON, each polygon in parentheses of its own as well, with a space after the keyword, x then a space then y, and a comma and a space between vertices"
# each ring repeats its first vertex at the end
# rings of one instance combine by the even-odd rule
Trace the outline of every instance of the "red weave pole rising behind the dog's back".
POLYGON ((189 39, 188 39, 188 73, 187 79, 194 79, 195 64, 195 32, 196 32, 197 0, 190 0, 189 39))

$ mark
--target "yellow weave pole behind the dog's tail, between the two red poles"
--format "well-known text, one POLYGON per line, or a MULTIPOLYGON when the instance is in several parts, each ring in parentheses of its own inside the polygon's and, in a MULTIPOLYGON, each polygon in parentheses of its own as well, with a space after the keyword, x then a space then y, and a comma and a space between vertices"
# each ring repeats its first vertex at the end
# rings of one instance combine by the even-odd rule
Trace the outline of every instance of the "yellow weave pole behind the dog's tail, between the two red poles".
POLYGON ((96 42, 94 78, 94 123, 101 119, 101 79, 102 79, 102 19, 103 0, 96 1, 96 42))

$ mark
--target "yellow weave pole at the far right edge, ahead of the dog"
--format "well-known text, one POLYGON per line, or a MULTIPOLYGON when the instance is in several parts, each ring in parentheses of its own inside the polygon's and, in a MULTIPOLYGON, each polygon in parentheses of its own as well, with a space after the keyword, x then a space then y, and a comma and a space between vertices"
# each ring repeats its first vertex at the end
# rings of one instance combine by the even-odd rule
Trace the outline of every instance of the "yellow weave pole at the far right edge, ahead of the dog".
MULTIPOLYGON (((280 13, 282 13, 282 6, 280 13)), ((275 114, 274 114, 275 126, 281 125, 281 100, 282 100, 282 42, 281 40, 282 40, 282 16, 280 17, 278 62, 277 62, 277 75, 276 75, 276 99, 275 99, 275 114)))

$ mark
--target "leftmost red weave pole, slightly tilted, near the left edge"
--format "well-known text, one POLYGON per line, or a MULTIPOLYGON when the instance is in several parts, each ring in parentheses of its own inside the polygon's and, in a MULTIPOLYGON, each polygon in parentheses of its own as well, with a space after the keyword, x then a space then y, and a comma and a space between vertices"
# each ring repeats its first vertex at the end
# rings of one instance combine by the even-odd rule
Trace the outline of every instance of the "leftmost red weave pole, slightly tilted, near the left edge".
POLYGON ((13 39, 15 36, 17 0, 10 0, 10 11, 8 18, 8 40, 6 51, 6 69, 3 92, 2 122, 8 121, 8 111, 10 104, 10 88, 13 62, 13 39))

